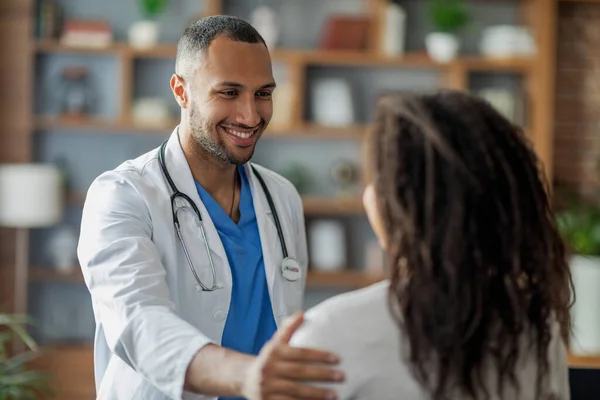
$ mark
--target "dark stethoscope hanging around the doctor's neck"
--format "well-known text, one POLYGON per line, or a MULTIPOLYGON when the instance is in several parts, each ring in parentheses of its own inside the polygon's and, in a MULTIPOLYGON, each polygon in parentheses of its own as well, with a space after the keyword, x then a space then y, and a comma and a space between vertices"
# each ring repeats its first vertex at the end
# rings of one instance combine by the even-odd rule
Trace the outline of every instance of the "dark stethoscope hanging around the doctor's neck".
MULTIPOLYGON (((173 179, 171 179, 171 175, 169 174, 169 171, 167 170, 167 166, 165 164, 165 147, 166 146, 167 146, 167 141, 165 141, 160 146, 160 149, 158 151, 158 163, 160 164, 160 169, 162 170, 162 173, 164 174, 165 179, 167 180, 167 183, 169 184, 169 186, 171 187, 171 190, 173 191, 173 194, 171 195, 171 211, 173 213, 173 224, 175 225, 175 231, 177 232, 177 238, 179 239, 179 242, 181 242, 181 246, 183 247, 183 252, 185 254, 185 258, 187 260, 188 266, 190 267, 190 270, 192 271, 192 274, 194 275, 196 282, 198 282, 198 286, 196 286, 196 289, 198 291, 202 290, 205 292, 212 292, 217 289, 222 289, 223 286, 220 286, 217 282, 217 271, 215 269, 215 264, 213 263, 213 259, 212 259, 211 252, 210 252, 210 247, 208 246, 208 240, 206 238, 206 233, 204 232, 204 222, 202 221, 202 216, 200 215, 200 210, 198 209, 198 207, 196 206, 194 201, 188 195, 180 192, 177 189, 177 186, 175 186, 173 179), (192 258, 190 257, 187 247, 185 246, 185 241, 183 240, 183 236, 181 234, 181 226, 179 223, 179 217, 177 216, 177 209, 175 207, 175 200, 177 198, 182 198, 183 200, 187 201, 188 204, 194 210, 194 213, 196 214, 196 216, 198 217, 198 223, 200 224, 200 232, 202 234, 202 240, 204 241, 204 247, 206 248, 206 254, 208 255, 208 262, 210 264, 210 269, 212 272, 213 283, 210 287, 208 287, 204 283, 202 283, 202 280, 200 279, 200 277, 198 276, 198 274, 196 272, 196 269, 194 268, 194 264, 192 263, 192 258)), ((285 238, 283 236, 283 230, 281 229, 281 224, 279 222, 279 216, 277 215, 277 210, 275 209, 275 204, 273 204, 273 198, 271 197, 271 193, 269 192, 269 189, 267 188, 265 181, 263 180, 262 176, 258 173, 256 168, 253 165, 251 165, 251 168, 252 168, 252 172, 254 172, 254 174, 258 178, 258 182, 262 186, 262 189, 265 193, 265 197, 267 198, 267 202, 269 203, 269 208, 271 209, 271 213, 273 214, 273 219, 275 221, 275 227, 277 228, 277 236, 279 236, 279 243, 281 244, 281 252, 283 253, 283 261, 281 262, 281 271, 280 271, 281 275, 286 280, 288 280, 290 282, 295 282, 298 279, 300 279, 300 277, 302 276, 302 268, 300 267, 300 263, 298 262, 298 260, 296 260, 295 258, 290 257, 288 255, 287 246, 285 245, 285 238)))

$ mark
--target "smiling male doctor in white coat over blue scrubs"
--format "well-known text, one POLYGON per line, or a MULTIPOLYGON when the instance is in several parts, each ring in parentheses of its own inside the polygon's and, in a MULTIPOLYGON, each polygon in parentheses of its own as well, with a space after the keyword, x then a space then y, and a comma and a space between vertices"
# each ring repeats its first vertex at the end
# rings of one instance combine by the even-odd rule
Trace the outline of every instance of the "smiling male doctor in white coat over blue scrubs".
POLYGON ((170 85, 179 126, 86 197, 97 398, 335 398, 308 384, 343 379, 335 355, 288 345, 308 264, 300 196, 249 163, 273 113, 263 39, 235 17, 199 20, 170 85))

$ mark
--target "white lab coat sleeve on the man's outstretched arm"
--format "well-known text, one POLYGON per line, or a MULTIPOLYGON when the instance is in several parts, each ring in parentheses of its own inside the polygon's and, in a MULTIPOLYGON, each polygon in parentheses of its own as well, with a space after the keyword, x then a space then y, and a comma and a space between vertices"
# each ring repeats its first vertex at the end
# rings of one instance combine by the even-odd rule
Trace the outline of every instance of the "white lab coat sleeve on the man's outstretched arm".
POLYGON ((149 211, 128 179, 133 174, 108 172, 92 183, 78 257, 111 352, 180 399, 190 361, 212 341, 175 313, 149 211))

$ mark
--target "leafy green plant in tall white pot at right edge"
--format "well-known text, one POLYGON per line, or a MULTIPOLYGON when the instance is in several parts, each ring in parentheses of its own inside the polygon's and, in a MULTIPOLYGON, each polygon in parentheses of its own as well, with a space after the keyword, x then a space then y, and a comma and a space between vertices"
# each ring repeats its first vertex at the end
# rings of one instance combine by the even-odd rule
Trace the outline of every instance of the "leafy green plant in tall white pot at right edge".
POLYGON ((565 191, 564 205, 556 213, 557 227, 570 250, 569 267, 575 303, 571 309, 570 351, 575 355, 600 354, 600 201, 565 191))

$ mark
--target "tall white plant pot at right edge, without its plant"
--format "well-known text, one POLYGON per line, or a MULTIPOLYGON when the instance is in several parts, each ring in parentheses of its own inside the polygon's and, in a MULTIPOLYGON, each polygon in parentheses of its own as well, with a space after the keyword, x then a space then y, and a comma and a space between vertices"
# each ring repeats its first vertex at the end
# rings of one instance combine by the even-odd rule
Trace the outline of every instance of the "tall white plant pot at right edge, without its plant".
POLYGON ((569 340, 575 355, 600 354, 600 257, 573 256, 570 262, 575 290, 571 309, 573 333, 569 340))

